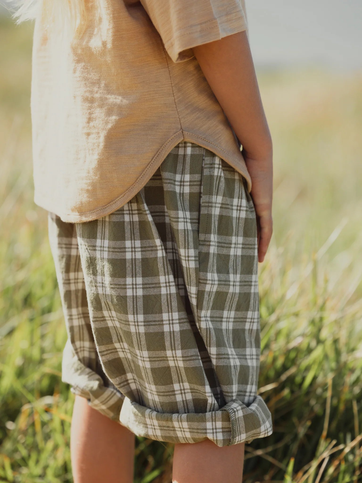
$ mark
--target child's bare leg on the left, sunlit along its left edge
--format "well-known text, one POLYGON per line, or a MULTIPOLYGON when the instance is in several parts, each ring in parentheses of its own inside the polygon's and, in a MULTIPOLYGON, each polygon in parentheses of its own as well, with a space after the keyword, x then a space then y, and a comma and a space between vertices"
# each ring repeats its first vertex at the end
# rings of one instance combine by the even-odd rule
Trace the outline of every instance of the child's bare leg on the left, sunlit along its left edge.
POLYGON ((70 451, 74 483, 132 483, 135 436, 75 397, 70 451))

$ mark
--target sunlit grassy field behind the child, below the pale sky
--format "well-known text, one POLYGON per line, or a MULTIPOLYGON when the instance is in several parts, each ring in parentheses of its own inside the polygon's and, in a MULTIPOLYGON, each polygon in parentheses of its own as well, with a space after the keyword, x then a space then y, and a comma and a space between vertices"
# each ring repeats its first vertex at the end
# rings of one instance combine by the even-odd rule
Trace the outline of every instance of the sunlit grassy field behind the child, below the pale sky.
MULTIPOLYGON (((0 15, 0 482, 71 482, 66 333, 33 203, 31 35, 0 15)), ((275 147, 275 233, 259 266, 274 433, 246 447, 244 483, 362 482, 362 75, 259 81, 275 147)), ((135 482, 170 483, 171 461, 171 445, 139 438, 135 482)))

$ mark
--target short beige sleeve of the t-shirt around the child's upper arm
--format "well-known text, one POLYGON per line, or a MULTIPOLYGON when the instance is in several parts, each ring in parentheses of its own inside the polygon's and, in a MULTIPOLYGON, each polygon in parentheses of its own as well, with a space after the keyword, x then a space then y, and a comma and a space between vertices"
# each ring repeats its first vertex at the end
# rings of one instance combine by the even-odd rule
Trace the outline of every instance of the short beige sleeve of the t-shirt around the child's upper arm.
POLYGON ((247 30, 244 0, 140 0, 174 62, 192 48, 247 30))

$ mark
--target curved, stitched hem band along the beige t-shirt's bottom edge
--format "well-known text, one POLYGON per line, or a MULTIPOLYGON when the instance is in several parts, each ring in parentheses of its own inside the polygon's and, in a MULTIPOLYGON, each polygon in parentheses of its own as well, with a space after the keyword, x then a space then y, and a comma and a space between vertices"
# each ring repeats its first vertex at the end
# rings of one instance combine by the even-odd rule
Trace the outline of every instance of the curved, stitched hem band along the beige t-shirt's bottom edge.
POLYGON ((42 197, 38 197, 36 194, 34 196, 34 202, 41 208, 55 213, 60 217, 62 221, 66 223, 83 223, 106 216, 118 210, 123 205, 125 205, 125 203, 127 203, 131 198, 133 198, 139 192, 139 190, 150 180, 150 178, 153 176, 157 168, 159 168, 162 161, 166 158, 172 148, 174 148, 181 141, 194 142, 195 144, 198 144, 199 146, 209 149, 210 151, 215 153, 217 156, 226 161, 230 166, 232 166, 235 170, 237 170, 242 176, 244 176, 248 183, 248 191, 251 191, 251 177, 246 168, 245 162, 243 162, 242 159, 235 159, 218 144, 211 142, 208 139, 203 138, 202 136, 198 136, 197 134, 187 132, 181 129, 176 134, 171 136, 162 145, 162 147, 157 151, 156 155, 153 156, 151 162, 147 165, 145 170, 142 172, 142 174, 133 185, 131 185, 121 196, 114 199, 107 205, 102 206, 101 208, 97 208, 96 210, 84 213, 62 213, 58 210, 55 210, 54 208, 49 208, 48 203, 43 200, 42 197))

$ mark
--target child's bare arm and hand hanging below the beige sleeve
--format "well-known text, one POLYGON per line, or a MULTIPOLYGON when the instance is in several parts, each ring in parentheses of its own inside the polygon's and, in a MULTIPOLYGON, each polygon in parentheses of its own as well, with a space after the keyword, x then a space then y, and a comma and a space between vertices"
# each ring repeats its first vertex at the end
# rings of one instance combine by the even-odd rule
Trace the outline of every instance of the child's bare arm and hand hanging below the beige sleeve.
POLYGON ((245 31, 193 48, 238 140, 251 175, 262 262, 273 231, 273 147, 245 31))

